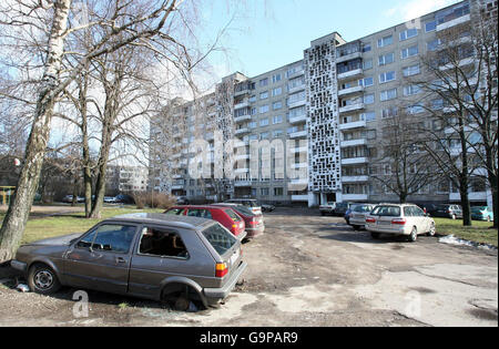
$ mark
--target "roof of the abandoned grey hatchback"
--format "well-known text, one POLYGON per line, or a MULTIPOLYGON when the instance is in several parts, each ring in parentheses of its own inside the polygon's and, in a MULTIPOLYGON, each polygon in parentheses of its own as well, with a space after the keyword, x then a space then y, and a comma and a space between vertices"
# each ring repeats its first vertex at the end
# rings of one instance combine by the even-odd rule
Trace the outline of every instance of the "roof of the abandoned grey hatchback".
POLYGON ((105 222, 120 220, 141 224, 160 224, 171 227, 185 228, 185 229, 198 229, 213 224, 212 219, 187 217, 187 216, 173 216, 159 213, 135 213, 115 216, 105 222))

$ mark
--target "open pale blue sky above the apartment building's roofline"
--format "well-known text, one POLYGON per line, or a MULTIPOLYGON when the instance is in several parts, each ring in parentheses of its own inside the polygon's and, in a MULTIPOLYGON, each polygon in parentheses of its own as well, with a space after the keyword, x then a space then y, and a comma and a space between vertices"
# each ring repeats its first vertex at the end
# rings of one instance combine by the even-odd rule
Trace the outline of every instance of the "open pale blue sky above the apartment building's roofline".
POLYGON ((205 33, 217 32, 231 19, 223 45, 212 55, 218 76, 241 71, 255 76, 303 59, 312 40, 339 32, 346 41, 432 12, 456 0, 213 0, 203 9, 205 33))

